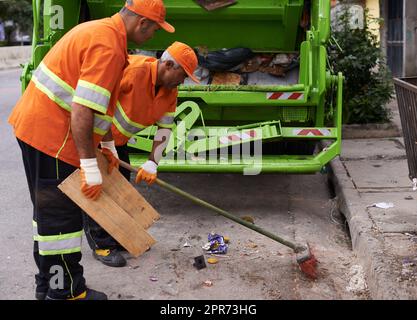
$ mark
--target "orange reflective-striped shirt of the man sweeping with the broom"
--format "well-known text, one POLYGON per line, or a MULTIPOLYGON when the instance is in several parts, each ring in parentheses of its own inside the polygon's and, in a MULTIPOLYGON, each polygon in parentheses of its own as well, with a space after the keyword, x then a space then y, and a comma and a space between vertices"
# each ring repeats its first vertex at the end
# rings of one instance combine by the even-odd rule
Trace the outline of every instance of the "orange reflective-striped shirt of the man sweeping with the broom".
POLYGON ((153 124, 162 128, 174 126, 178 90, 161 87, 156 93, 157 74, 156 58, 129 56, 113 117, 112 133, 117 146, 153 124))

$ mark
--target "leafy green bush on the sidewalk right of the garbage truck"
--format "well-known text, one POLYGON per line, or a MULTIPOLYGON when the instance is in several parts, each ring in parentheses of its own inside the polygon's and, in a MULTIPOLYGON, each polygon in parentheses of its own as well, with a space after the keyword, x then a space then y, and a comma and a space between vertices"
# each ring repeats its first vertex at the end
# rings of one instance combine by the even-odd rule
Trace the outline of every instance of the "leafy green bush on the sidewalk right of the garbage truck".
POLYGON ((337 45, 328 47, 333 71, 341 71, 345 76, 343 122, 388 122, 391 114, 387 103, 394 88, 378 39, 369 28, 369 23, 375 19, 366 11, 363 30, 351 30, 349 19, 347 8, 342 9, 332 31, 341 50, 337 45))

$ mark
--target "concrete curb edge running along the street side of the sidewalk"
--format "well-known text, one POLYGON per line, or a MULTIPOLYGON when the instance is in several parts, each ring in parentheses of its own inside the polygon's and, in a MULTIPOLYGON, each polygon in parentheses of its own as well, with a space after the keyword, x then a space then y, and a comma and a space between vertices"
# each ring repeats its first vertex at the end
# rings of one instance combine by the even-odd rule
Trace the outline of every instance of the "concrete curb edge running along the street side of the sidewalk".
POLYGON ((377 232, 359 191, 339 158, 331 161, 329 178, 339 209, 349 224, 352 247, 364 267, 371 297, 378 300, 413 299, 393 277, 390 266, 394 261, 385 253, 383 234, 377 232))

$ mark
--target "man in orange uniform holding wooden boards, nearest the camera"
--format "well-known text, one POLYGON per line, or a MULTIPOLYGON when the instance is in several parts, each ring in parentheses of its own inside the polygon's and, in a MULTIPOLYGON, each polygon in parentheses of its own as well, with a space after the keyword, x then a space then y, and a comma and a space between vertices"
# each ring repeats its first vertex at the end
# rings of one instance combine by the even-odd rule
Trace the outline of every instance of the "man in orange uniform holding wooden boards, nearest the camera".
POLYGON ((74 27, 42 60, 12 111, 9 122, 34 206, 37 299, 107 299, 86 287, 83 212, 57 186, 80 168, 83 194, 91 201, 100 196, 100 141, 108 170, 118 167, 110 127, 128 64, 127 41, 141 44, 160 28, 175 30, 165 21, 162 0, 129 0, 110 18, 74 27))

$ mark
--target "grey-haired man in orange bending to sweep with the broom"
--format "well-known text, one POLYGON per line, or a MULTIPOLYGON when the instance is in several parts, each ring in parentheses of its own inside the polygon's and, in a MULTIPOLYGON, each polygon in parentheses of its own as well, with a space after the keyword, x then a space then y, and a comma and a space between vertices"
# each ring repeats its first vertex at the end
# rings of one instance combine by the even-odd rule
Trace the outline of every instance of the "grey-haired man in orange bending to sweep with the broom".
MULTIPOLYGON (((129 56, 129 66, 125 69, 120 86, 120 96, 113 117, 112 133, 120 159, 129 162, 127 143, 136 133, 151 125, 157 125, 152 151, 149 159, 142 164, 136 176, 136 183, 145 181, 151 184, 157 176, 158 163, 162 158, 177 106, 177 86, 185 78, 193 81, 198 66, 193 49, 181 42, 174 42, 158 60, 147 56, 129 56)), ((130 172, 120 168, 130 180, 130 172)), ((93 219, 86 216, 84 230, 93 256, 111 267, 123 267, 123 249, 93 219)))

